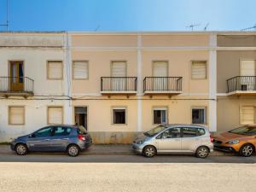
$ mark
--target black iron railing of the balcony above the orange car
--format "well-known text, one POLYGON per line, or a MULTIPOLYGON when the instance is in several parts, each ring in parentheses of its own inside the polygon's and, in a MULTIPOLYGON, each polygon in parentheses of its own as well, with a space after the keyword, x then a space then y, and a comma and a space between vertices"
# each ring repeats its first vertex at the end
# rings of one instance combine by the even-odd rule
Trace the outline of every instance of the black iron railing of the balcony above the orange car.
POLYGON ((228 93, 236 90, 256 90, 256 76, 236 76, 227 80, 228 93))

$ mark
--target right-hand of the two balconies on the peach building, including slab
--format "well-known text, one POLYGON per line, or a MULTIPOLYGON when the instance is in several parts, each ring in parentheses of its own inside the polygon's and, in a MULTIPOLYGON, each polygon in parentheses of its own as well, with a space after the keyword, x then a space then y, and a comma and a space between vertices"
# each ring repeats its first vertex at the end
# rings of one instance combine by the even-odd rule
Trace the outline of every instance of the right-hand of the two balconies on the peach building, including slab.
POLYGON ((182 77, 146 77, 143 91, 146 95, 177 95, 182 93, 182 77))

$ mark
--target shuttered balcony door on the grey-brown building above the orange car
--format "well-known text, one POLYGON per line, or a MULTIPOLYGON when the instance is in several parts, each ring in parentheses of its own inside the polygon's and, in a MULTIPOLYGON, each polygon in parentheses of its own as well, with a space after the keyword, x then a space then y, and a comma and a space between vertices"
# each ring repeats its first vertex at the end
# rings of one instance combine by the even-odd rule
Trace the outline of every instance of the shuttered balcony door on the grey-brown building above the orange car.
POLYGON ((256 63, 253 60, 241 61, 241 90, 255 90, 255 67, 256 63))

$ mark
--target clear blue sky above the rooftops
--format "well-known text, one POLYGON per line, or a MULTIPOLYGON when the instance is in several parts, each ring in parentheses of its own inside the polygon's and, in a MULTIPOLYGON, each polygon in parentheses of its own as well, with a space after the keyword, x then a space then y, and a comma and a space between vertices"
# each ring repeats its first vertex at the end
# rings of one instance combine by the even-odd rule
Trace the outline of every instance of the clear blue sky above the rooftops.
POLYGON ((10 31, 189 31, 192 23, 200 31, 254 26, 256 0, 9 0, 10 31))

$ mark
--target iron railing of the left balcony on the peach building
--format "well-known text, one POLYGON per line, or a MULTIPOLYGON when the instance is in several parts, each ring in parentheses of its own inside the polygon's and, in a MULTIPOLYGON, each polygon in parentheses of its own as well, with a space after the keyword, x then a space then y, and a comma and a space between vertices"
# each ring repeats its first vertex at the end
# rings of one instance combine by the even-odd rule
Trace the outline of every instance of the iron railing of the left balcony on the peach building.
POLYGON ((101 91, 137 91, 137 77, 102 77, 101 91))

